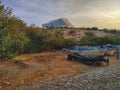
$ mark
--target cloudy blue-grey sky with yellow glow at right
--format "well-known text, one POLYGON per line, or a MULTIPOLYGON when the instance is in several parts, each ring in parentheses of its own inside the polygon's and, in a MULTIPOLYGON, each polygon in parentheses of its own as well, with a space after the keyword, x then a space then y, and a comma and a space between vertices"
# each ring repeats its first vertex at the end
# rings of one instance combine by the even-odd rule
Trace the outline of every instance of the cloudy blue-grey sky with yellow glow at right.
POLYGON ((120 0, 2 0, 24 22, 40 26, 67 18, 76 27, 120 29, 120 0))

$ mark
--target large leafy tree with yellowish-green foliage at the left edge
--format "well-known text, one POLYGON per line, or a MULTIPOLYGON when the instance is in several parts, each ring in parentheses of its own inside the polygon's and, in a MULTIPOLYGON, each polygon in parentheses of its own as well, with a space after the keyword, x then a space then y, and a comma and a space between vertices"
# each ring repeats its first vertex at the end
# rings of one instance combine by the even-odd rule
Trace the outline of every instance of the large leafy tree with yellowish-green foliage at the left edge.
POLYGON ((12 15, 12 9, 0 3, 0 58, 13 58, 23 51, 29 39, 21 25, 25 26, 12 15))

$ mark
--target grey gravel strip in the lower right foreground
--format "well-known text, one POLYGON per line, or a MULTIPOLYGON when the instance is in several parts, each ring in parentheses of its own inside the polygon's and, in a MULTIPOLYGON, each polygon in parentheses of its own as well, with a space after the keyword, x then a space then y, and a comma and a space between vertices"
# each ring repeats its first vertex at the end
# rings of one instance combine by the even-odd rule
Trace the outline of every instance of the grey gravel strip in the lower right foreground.
POLYGON ((19 90, 120 90, 120 65, 103 67, 72 77, 56 78, 47 84, 19 90))

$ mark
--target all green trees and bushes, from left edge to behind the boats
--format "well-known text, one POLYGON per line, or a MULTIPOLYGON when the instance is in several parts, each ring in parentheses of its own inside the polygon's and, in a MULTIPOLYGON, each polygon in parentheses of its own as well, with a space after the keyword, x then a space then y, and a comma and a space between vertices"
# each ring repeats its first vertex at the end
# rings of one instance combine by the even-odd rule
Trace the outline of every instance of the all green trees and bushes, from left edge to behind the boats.
MULTIPOLYGON (((58 28, 60 29, 60 28, 58 28)), ((63 28, 61 28, 63 30, 63 28)), ((97 27, 85 28, 98 30, 97 27)), ((107 31, 106 31, 107 32, 107 31)), ((118 31, 111 31, 118 32, 118 31)), ((76 31, 71 30, 70 35, 76 31)), ((94 33, 87 32, 81 39, 82 44, 120 44, 120 37, 96 37, 94 33)), ((35 25, 27 26, 22 20, 12 15, 12 9, 5 8, 0 3, 0 58, 10 59, 21 53, 37 53, 42 51, 60 50, 63 47, 71 48, 77 41, 65 39, 61 31, 50 33, 48 29, 41 29, 35 25)))

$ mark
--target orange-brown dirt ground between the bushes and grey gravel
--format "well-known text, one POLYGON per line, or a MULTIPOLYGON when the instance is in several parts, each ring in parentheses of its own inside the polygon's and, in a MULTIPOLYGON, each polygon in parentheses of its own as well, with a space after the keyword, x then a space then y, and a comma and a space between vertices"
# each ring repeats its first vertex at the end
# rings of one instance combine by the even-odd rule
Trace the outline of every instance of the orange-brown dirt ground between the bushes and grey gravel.
MULTIPOLYGON (((110 65, 120 64, 110 56, 110 65)), ((79 62, 68 61, 63 52, 44 52, 24 54, 13 60, 0 62, 0 90, 14 90, 19 87, 45 83, 58 77, 73 76, 101 67, 87 66, 79 62)))

